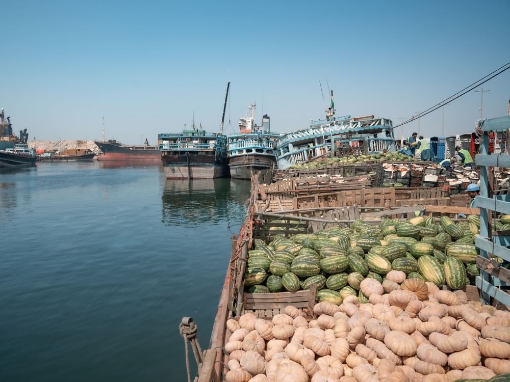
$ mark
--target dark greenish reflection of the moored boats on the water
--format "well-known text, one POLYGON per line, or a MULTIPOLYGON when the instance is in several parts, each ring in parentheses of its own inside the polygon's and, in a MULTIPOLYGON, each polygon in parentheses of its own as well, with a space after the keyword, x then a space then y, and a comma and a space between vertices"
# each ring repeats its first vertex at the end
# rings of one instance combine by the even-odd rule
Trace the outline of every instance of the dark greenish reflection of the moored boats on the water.
POLYGON ((163 223, 197 227, 239 220, 246 211, 249 182, 236 179, 167 179, 163 190, 163 223))

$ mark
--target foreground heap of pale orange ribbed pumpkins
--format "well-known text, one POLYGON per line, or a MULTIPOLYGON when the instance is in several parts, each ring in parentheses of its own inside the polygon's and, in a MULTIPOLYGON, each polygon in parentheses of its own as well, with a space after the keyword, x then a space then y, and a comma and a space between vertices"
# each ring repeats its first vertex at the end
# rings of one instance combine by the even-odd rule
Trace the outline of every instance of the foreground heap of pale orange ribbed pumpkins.
POLYGON ((362 281, 368 303, 323 301, 309 319, 293 306, 271 321, 229 319, 226 381, 510 380, 509 312, 403 272, 386 281, 362 281))

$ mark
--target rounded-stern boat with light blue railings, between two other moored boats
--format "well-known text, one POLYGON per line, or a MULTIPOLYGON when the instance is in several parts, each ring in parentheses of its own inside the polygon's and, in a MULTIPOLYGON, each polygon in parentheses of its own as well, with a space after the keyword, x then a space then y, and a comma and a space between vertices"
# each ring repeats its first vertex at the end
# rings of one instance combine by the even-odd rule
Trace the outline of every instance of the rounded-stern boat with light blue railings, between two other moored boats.
POLYGON ((246 117, 239 120, 239 132, 228 135, 228 167, 230 176, 250 179, 250 174, 261 172, 261 179, 276 167, 274 142, 282 133, 270 132, 269 116, 262 117, 262 126, 254 124, 255 104, 248 106, 246 117))

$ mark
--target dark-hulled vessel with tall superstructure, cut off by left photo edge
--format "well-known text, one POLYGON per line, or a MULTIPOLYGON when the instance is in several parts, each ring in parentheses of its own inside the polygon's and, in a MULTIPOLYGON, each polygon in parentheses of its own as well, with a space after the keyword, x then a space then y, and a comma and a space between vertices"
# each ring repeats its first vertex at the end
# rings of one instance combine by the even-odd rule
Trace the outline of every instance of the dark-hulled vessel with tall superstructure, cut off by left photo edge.
POLYGON ((0 168, 35 166, 37 155, 35 149, 29 148, 27 129, 19 132, 19 137, 12 132, 10 117, 5 120, 4 109, 0 113, 0 168))

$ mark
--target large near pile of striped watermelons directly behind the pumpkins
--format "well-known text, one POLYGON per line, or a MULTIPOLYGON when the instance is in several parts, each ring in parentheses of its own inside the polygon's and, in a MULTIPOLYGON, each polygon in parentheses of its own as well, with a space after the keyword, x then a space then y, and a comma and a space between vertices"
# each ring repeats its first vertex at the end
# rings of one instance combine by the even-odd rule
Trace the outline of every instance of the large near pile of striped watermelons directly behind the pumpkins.
MULTIPOLYGON (((382 283, 391 270, 404 272, 408 279, 462 289, 479 275, 474 245, 479 227, 477 215, 457 223, 447 216, 439 222, 419 216, 386 219, 379 226, 357 220, 349 228, 276 235, 269 244, 255 239, 244 285, 249 293, 269 293, 296 292, 316 284, 318 300, 337 305, 348 295, 368 302, 360 283, 365 278, 382 283)), ((510 229, 510 215, 495 222, 495 228, 510 229)))

